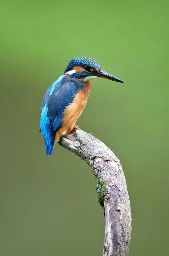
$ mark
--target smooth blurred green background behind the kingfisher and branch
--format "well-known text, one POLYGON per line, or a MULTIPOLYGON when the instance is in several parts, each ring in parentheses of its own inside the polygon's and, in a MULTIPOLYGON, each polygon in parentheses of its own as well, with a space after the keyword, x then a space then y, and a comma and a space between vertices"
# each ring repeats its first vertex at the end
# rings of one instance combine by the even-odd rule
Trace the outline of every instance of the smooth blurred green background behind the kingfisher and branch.
POLYGON ((121 160, 129 256, 168 255, 168 1, 1 1, 0 255, 101 255, 105 219, 84 161, 46 156, 40 107, 75 57, 124 80, 92 80, 77 124, 121 160))

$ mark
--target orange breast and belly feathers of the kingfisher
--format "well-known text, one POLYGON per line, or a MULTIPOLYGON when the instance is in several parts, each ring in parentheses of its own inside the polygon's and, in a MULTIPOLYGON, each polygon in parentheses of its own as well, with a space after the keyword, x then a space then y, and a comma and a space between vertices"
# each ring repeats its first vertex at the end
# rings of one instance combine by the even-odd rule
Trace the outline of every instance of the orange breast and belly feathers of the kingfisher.
POLYGON ((85 82, 85 90, 79 89, 79 92, 75 96, 73 102, 65 109, 64 117, 62 119, 62 127, 56 133, 55 144, 62 135, 72 131, 73 126, 85 108, 89 93, 90 82, 85 82))

